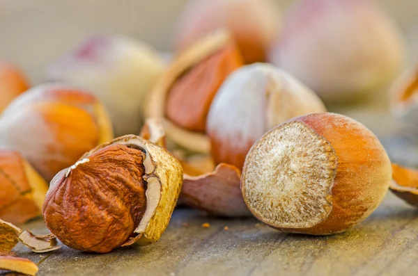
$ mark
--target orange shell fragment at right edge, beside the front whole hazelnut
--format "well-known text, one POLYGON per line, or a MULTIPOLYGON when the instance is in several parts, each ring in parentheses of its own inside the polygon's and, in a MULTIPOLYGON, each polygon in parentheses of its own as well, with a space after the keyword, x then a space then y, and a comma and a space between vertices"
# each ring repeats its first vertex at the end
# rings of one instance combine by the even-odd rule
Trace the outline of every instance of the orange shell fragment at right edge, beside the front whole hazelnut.
POLYGON ((389 186, 396 196, 418 207, 418 171, 392 164, 392 181, 389 186))

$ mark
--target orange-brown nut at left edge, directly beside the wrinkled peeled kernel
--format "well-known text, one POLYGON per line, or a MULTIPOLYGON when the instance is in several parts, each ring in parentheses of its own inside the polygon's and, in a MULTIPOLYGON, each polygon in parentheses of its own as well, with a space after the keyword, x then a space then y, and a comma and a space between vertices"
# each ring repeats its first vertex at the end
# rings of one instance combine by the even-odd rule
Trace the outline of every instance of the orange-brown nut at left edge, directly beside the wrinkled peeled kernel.
POLYGON ((0 149, 0 218, 13 224, 40 216, 48 186, 18 153, 0 149))

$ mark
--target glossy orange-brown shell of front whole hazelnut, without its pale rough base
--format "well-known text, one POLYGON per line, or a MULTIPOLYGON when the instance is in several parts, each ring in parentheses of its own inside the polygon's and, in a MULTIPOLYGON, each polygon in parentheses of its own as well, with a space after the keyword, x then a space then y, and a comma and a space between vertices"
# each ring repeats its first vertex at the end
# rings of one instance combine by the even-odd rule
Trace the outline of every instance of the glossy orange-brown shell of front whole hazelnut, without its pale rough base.
MULTIPOLYGON (((277 128, 295 122, 309 127, 318 137, 325 138, 327 143, 330 143, 327 150, 336 156, 334 179, 329 193, 325 196, 331 208, 320 222, 311 227, 270 226, 285 232, 314 235, 343 232, 367 218, 382 202, 392 179, 389 157, 378 138, 369 129, 346 116, 334 113, 312 113, 295 117, 277 128)), ((265 136, 268 136, 268 133, 265 136)), ((242 172, 241 188, 247 206, 250 200, 247 197, 247 189, 251 188, 246 182, 249 177, 248 165, 251 163, 253 152, 257 150, 260 140, 251 148, 242 172)), ((304 152, 307 151, 309 149, 304 149, 304 152)), ((299 192, 303 193, 303 190, 299 192)), ((260 214, 255 213, 251 206, 249 209, 254 216, 262 220, 260 214)))

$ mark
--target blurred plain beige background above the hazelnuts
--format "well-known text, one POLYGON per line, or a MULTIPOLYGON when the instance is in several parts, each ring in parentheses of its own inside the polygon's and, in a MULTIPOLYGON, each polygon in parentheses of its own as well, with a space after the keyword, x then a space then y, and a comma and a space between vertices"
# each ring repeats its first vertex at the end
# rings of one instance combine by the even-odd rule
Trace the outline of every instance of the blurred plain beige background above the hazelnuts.
MULTIPOLYGON (((282 15, 292 0, 275 0, 282 15)), ((418 1, 375 1, 401 27, 408 65, 418 62, 418 1)), ((45 78, 45 66, 93 34, 125 34, 169 51, 187 0, 1 0, 0 56, 29 75, 45 78)))

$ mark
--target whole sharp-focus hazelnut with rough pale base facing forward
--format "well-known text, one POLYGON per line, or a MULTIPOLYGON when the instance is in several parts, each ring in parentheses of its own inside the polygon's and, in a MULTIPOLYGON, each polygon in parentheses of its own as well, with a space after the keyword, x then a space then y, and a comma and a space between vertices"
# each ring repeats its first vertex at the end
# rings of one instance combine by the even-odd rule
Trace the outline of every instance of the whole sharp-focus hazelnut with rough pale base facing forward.
POLYGON ((334 234, 369 216, 392 168, 378 138, 334 113, 295 117, 251 147, 242 195, 251 213, 286 232, 334 234))

